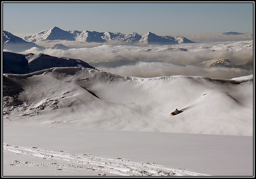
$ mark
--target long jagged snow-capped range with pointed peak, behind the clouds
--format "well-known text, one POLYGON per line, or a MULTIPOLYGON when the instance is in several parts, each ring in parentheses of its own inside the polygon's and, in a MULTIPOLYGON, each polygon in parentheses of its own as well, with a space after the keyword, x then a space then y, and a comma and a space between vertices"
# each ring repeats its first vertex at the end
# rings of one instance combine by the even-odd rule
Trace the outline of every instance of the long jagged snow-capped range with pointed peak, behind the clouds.
POLYGON ((181 44, 195 43, 185 37, 158 36, 154 33, 147 32, 144 35, 133 33, 112 33, 112 32, 96 32, 96 31, 65 31, 59 27, 53 27, 50 30, 44 30, 35 35, 23 38, 27 42, 38 42, 42 40, 68 40, 68 41, 85 41, 85 42, 108 42, 111 40, 119 40, 124 42, 143 42, 148 44, 181 44))

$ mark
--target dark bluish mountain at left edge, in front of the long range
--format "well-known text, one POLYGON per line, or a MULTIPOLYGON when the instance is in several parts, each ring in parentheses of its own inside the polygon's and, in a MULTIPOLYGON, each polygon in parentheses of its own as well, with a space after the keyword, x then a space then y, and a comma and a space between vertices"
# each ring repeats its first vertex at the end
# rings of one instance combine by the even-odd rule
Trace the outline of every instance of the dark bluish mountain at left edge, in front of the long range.
POLYGON ((22 38, 3 30, 3 49, 11 50, 12 52, 22 52, 31 49, 32 47, 37 47, 40 50, 45 49, 44 47, 38 46, 32 42, 27 42, 22 38))

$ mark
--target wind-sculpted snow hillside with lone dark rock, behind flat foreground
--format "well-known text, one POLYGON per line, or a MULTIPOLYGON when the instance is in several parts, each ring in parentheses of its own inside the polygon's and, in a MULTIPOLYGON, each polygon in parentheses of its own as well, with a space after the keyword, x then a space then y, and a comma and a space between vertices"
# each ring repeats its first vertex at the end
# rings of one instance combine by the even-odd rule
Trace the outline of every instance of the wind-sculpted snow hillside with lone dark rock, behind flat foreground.
POLYGON ((253 76, 139 78, 82 67, 4 76, 23 88, 22 105, 5 97, 8 125, 253 135, 253 76), (183 112, 171 116, 176 108, 183 112))

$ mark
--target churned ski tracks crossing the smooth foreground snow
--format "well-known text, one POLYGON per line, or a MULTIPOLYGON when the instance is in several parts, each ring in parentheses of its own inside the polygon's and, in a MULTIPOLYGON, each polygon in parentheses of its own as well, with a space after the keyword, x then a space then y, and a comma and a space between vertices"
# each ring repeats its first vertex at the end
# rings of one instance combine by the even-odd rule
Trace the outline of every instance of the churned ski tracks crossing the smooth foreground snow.
POLYGON ((56 170, 66 171, 98 171, 98 175, 107 176, 106 173, 121 176, 209 176, 207 174, 186 171, 185 169, 166 168, 154 162, 132 162, 122 158, 101 158, 91 154, 73 154, 63 150, 44 150, 37 147, 12 146, 3 143, 3 150, 8 150, 20 155, 49 159, 50 164, 39 164, 29 161, 3 161, 6 165, 26 165, 39 167, 52 167, 56 170), (58 164, 57 162, 65 163, 58 164))

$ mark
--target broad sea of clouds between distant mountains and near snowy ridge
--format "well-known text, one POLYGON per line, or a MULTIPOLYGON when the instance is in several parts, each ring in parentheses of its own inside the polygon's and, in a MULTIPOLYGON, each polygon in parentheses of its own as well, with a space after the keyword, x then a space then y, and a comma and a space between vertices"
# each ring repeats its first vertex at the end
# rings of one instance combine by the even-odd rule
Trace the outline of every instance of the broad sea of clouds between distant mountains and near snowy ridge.
POLYGON ((230 79, 253 74, 253 67, 250 69, 207 68, 201 65, 202 62, 216 61, 217 59, 228 59, 233 65, 242 65, 248 62, 253 64, 253 49, 241 50, 246 45, 246 41, 241 43, 242 45, 235 46, 234 42, 225 42, 225 48, 221 47, 223 49, 220 50, 219 42, 180 44, 171 48, 157 45, 136 46, 129 44, 128 46, 126 42, 112 42, 113 44, 103 45, 102 43, 76 41, 44 41, 40 43, 38 45, 44 47, 61 43, 72 48, 69 50, 46 49, 40 51, 33 47, 20 53, 44 53, 59 58, 81 59, 99 70, 138 77, 188 75, 230 79), (226 50, 226 46, 232 50, 226 50), (211 50, 210 47, 218 50, 211 50))

